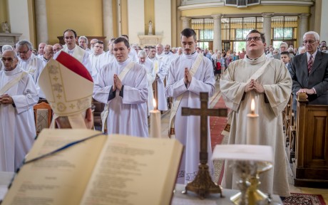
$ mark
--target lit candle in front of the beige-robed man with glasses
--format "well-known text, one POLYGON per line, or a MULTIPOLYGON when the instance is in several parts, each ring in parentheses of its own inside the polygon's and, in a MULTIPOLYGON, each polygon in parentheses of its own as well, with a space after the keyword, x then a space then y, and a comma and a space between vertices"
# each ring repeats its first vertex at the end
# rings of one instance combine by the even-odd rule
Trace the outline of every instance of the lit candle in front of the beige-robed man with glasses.
POLYGON ((250 103, 250 114, 247 114, 247 144, 259 144, 258 120, 259 115, 255 114, 255 101, 252 99, 250 103))

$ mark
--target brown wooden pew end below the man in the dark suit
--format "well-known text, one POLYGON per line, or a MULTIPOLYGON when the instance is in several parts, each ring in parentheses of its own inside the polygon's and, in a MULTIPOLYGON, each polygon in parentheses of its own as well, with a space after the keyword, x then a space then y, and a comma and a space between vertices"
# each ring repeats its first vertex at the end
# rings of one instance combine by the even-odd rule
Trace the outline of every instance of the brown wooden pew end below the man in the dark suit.
POLYGON ((328 105, 307 105, 297 97, 294 186, 328 188, 328 105))

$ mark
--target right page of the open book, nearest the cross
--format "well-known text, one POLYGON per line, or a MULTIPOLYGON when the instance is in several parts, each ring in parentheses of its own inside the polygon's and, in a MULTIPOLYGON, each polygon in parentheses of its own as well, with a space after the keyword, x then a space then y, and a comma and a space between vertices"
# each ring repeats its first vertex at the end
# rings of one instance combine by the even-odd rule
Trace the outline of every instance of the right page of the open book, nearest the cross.
POLYGON ((182 150, 177 140, 110 135, 81 204, 170 204, 182 150))

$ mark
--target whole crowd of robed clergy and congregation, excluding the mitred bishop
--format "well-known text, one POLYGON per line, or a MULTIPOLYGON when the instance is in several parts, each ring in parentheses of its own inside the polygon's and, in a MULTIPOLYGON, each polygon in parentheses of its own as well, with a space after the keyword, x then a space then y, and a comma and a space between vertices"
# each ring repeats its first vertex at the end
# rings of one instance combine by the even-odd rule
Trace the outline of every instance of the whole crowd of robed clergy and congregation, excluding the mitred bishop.
MULTIPOLYGON (((280 48, 273 48, 265 44, 263 33, 253 30, 242 51, 216 50, 214 53, 197 46, 196 33, 191 28, 180 33, 181 47, 178 48, 162 44, 140 48, 123 35, 110 39, 108 51, 105 51, 103 41, 92 39, 88 42, 86 36, 78 37, 73 29, 64 31, 63 39, 65 45, 40 43, 38 51, 25 40, 16 43, 14 48, 2 46, 0 171, 15 172, 31 149, 36 137, 33 106, 50 96, 44 93, 41 73, 51 59, 59 61, 61 52, 65 52, 84 65, 87 75, 91 76, 93 93, 90 96, 105 104, 101 120, 108 134, 148 137, 150 111, 168 110, 168 98, 178 103, 173 123, 176 139, 185 145, 178 170, 178 183, 181 184, 195 179, 200 151, 200 117, 182 116, 181 107, 200 107, 200 93, 207 92, 212 97, 215 80, 219 81, 225 104, 232 110, 229 143, 245 144, 245 136, 240 133, 246 133, 245 116, 250 99, 255 98, 257 113, 263 117, 259 143, 275 150, 275 168, 265 175, 261 187, 266 193, 289 196, 282 110, 291 93, 295 96, 307 93, 310 103, 328 105, 327 45, 325 41, 319 42, 317 33, 305 33, 304 46, 299 48, 285 42, 280 48), (303 67, 307 75, 302 73, 303 67), (154 82, 156 90, 153 90, 154 82), (158 97, 155 107, 154 91, 158 97)), ((48 73, 55 72, 47 69, 48 73)), ((57 91, 63 89, 56 87, 57 91)), ((61 98, 61 95, 53 98, 61 98)), ((60 105, 53 106, 61 110, 60 105)), ((210 156, 210 132, 207 139, 210 156)), ((208 164, 212 174, 212 160, 208 164)), ((234 189, 235 173, 227 169, 225 166, 223 184, 234 189)))

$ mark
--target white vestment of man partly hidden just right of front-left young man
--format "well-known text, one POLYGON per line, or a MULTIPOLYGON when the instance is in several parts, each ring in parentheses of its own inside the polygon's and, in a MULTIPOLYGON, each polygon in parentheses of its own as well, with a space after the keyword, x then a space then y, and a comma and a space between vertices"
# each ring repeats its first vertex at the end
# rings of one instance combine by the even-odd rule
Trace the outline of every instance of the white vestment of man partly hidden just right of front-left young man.
POLYGON ((154 110, 153 106, 153 82, 156 77, 155 69, 153 69, 153 62, 150 61, 148 58, 145 59, 145 63, 140 63, 140 65, 145 66, 145 70, 147 70, 147 80, 148 80, 148 115, 150 115, 150 110, 154 110))

